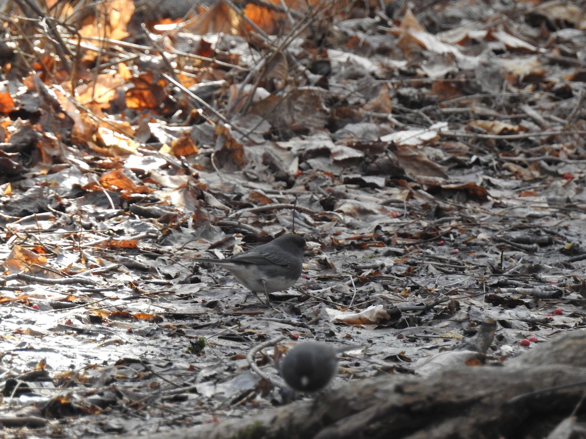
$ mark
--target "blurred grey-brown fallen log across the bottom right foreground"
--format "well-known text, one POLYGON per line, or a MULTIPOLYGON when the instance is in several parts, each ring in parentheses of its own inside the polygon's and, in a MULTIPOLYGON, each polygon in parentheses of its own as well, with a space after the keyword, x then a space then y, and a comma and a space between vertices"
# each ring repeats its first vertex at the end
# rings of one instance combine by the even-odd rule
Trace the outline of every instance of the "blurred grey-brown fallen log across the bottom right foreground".
MULTIPOLYGON (((172 434, 174 439, 547 437, 575 411, 584 412, 584 347, 586 330, 577 330, 505 366, 462 365, 424 376, 356 380, 315 399, 172 434)), ((168 438, 169 431, 149 437, 168 438)))

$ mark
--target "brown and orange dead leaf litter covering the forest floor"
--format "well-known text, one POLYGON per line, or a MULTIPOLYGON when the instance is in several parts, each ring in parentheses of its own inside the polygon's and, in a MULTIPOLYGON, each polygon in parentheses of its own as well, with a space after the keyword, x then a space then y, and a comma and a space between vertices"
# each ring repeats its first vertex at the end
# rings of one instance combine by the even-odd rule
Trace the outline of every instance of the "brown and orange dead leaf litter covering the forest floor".
POLYGON ((285 404, 288 342, 254 356, 272 381, 246 358, 278 336, 364 346, 341 386, 490 319, 488 363, 584 327, 578 2, 27 5, 0 47, 6 434, 285 404), (197 263, 293 227, 304 272, 268 308, 197 263))

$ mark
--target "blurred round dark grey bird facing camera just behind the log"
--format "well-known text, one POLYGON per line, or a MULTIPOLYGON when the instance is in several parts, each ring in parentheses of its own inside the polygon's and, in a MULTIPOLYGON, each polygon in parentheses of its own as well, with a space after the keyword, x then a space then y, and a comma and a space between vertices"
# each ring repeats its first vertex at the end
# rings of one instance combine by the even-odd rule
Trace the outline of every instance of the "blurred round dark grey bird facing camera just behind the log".
POLYGON ((329 343, 309 341, 289 349, 277 363, 285 383, 299 392, 315 392, 329 384, 338 372, 340 352, 360 349, 359 346, 334 348, 329 343))

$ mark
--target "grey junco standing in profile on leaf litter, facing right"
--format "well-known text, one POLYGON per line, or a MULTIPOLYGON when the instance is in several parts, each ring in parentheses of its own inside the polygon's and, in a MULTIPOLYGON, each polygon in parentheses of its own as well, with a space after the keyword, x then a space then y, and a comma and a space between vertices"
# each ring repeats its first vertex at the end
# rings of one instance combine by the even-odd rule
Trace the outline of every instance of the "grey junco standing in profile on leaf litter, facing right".
MULTIPOLYGON (((299 235, 281 235, 271 242, 226 259, 199 258, 231 272, 236 280, 257 293, 288 289, 301 276, 305 239, 299 235)), ((260 300, 262 302, 262 300, 260 300)))

